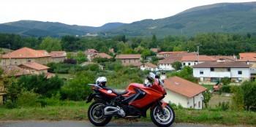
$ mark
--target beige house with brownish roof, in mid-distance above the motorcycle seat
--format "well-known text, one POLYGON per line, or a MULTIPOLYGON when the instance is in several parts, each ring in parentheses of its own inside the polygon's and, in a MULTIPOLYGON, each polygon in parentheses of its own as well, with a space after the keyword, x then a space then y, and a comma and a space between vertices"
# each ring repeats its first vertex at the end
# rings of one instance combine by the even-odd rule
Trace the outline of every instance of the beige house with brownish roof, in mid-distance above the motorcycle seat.
POLYGON ((140 54, 120 54, 116 55, 116 59, 120 60, 124 66, 135 65, 140 66, 140 54))

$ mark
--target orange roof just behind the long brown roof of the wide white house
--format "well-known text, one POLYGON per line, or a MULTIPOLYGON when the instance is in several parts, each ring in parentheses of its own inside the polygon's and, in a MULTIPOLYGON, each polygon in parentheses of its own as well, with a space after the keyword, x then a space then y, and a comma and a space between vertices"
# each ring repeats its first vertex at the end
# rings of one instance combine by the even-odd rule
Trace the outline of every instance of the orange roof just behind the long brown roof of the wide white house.
POLYGON ((181 61, 217 61, 217 59, 212 58, 211 56, 208 55, 187 55, 187 56, 183 56, 181 58, 181 61))

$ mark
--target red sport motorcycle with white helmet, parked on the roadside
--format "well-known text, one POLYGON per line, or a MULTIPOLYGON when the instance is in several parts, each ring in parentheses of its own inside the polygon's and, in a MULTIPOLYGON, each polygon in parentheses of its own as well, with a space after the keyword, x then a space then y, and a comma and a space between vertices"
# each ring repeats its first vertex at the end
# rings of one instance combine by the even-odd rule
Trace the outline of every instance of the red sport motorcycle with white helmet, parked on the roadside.
POLYGON ((126 91, 118 92, 105 86, 107 79, 99 77, 92 85, 94 93, 87 99, 90 105, 88 117, 94 126, 105 126, 111 118, 146 118, 146 111, 150 108, 151 120, 157 126, 170 126, 175 119, 175 112, 169 104, 162 101, 166 92, 163 81, 153 73, 143 84, 131 83, 126 91))

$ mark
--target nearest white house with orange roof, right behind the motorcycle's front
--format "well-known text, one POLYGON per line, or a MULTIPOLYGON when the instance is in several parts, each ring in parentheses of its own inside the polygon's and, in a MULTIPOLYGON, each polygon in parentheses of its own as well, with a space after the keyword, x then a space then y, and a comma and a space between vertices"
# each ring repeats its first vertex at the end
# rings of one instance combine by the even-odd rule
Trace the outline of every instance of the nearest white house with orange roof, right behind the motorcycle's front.
POLYGON ((201 85, 184 80, 181 77, 169 77, 165 79, 167 96, 164 101, 184 108, 202 109, 203 92, 206 91, 201 85))

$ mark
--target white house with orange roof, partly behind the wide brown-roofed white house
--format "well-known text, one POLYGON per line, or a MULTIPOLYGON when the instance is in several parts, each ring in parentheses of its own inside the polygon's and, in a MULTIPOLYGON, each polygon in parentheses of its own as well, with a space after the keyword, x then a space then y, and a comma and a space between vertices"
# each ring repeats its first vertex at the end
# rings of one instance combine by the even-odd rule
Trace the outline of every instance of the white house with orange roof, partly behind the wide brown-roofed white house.
POLYGON ((194 66, 197 63, 214 62, 217 59, 208 55, 186 55, 181 58, 182 66, 194 66))

